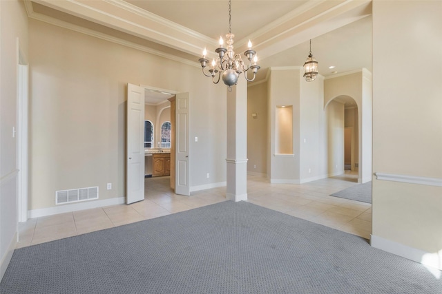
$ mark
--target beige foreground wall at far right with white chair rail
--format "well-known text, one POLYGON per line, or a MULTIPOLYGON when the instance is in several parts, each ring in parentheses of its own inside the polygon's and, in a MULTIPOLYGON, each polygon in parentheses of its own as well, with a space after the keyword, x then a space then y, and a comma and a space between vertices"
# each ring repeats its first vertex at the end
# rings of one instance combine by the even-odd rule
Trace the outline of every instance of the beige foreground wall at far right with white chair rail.
MULTIPOLYGON (((373 3, 375 173, 441 182, 441 12, 442 1, 373 3)), ((442 187, 373 178, 372 244, 419 249, 442 269, 441 196, 442 187)))

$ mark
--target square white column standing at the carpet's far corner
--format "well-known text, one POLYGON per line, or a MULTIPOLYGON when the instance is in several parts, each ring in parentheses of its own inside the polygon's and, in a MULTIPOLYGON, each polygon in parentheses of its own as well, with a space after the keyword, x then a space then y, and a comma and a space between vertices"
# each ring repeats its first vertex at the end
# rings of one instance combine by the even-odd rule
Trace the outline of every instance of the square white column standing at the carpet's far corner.
POLYGON ((247 81, 227 87, 227 194, 233 201, 247 200, 247 81))

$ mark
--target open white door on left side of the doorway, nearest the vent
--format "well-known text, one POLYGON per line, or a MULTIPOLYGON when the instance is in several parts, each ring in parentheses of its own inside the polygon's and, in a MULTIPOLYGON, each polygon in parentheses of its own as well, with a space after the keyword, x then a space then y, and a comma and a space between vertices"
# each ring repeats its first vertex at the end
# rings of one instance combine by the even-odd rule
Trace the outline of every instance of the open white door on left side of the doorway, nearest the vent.
POLYGON ((144 200, 144 87, 127 85, 126 203, 144 200))

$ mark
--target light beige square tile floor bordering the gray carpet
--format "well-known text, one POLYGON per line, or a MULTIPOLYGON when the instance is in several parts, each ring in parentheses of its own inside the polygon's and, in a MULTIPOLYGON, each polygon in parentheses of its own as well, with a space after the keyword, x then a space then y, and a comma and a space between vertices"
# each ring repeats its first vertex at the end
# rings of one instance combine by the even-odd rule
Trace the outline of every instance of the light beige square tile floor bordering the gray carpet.
MULTIPOLYGON (((270 184, 265 178, 248 176, 247 201, 369 239, 372 205, 329 196, 354 185, 357 185, 357 174, 352 172, 302 185, 270 184)), ((17 248, 226 201, 225 193, 226 187, 219 187, 181 196, 171 191, 169 177, 146 178, 144 201, 32 218, 19 223, 17 248)))

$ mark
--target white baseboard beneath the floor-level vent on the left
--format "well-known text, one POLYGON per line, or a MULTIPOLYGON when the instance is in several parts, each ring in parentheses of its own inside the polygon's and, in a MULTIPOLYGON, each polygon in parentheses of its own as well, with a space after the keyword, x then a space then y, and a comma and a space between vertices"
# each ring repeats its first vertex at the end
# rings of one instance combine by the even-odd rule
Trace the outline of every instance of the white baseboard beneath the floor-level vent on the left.
POLYGON ((28 218, 40 218, 42 216, 52 216, 54 214, 73 212, 97 207, 106 207, 110 205, 124 204, 126 197, 96 200, 90 202, 79 202, 75 204, 58 205, 57 207, 48 207, 42 209, 33 209, 28 211, 28 218))

